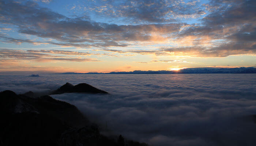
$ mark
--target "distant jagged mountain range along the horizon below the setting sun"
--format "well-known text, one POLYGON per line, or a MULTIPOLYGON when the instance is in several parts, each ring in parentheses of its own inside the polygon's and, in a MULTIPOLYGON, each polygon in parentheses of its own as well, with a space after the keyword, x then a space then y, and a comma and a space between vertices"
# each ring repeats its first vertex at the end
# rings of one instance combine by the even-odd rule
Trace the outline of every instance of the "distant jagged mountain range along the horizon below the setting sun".
POLYGON ((241 68, 186 68, 180 70, 134 70, 133 72, 110 72, 110 73, 56 73, 56 74, 192 74, 192 73, 256 73, 256 67, 241 67, 241 68))

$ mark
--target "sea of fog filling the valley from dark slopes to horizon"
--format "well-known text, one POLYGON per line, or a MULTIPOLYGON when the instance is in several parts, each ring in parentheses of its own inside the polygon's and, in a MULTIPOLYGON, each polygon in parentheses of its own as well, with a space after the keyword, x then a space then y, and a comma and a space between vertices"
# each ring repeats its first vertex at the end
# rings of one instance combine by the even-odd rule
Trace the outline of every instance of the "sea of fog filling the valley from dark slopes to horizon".
POLYGON ((153 146, 256 145, 256 74, 0 75, 0 91, 46 92, 69 82, 109 95, 65 93, 103 134, 153 146))

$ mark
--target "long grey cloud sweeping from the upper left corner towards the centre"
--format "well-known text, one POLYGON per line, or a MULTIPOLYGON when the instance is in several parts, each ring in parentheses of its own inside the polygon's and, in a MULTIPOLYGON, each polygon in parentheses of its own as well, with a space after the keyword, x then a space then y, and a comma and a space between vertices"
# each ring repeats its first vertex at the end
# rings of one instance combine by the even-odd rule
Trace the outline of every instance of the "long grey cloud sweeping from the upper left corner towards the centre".
POLYGON ((42 38, 54 38, 60 41, 48 42, 54 45, 125 47, 127 46, 126 44, 115 42, 115 40, 151 41, 152 38, 148 32, 174 32, 181 27, 181 24, 118 26, 116 24, 90 22, 81 18, 67 18, 31 2, 26 3, 26 5, 12 2, 4 3, 3 5, 4 7, 1 8, 3 19, 0 20, 2 23, 18 26, 18 32, 20 33, 36 35, 42 38), (140 31, 143 31, 143 33, 139 33, 140 31), (127 32, 135 38, 127 39, 127 36, 125 36, 127 32), (136 35, 138 36, 136 37, 136 35))

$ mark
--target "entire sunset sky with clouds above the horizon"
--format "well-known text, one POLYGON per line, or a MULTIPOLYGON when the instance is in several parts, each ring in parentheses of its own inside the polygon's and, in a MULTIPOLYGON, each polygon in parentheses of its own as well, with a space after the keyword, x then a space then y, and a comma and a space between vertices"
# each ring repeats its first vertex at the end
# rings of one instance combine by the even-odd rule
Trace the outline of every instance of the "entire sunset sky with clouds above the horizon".
POLYGON ((253 0, 0 0, 0 71, 256 66, 253 0))

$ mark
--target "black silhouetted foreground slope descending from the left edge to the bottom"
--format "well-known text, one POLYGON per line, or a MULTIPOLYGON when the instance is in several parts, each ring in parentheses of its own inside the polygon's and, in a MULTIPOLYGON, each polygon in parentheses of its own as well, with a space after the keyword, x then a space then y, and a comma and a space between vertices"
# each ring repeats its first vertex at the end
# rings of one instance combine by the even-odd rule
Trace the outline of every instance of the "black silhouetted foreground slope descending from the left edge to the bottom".
POLYGON ((0 92, 0 114, 1 146, 146 146, 101 135, 74 105, 50 96, 0 92))

